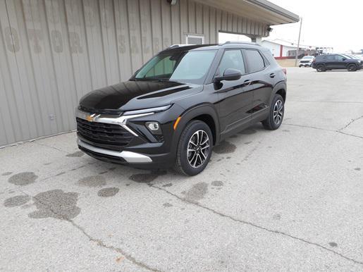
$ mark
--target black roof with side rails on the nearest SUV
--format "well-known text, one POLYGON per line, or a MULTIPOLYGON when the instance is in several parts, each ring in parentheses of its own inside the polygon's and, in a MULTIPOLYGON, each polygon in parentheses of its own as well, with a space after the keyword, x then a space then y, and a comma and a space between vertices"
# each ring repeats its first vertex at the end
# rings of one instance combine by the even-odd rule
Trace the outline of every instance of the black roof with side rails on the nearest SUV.
POLYGON ((199 51, 199 50, 219 50, 219 49, 259 49, 269 51, 266 47, 251 42, 225 42, 224 44, 194 44, 194 45, 172 45, 160 53, 168 53, 173 51, 199 51))

